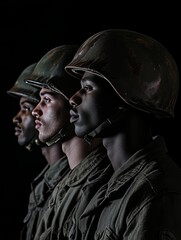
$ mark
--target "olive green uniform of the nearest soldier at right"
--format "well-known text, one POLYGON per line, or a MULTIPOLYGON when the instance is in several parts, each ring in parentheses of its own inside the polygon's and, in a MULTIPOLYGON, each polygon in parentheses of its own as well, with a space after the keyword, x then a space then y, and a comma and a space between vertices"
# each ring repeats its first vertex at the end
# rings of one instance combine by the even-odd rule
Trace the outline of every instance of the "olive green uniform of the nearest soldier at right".
POLYGON ((74 240, 180 240, 181 169, 163 138, 130 157, 77 221, 74 240))

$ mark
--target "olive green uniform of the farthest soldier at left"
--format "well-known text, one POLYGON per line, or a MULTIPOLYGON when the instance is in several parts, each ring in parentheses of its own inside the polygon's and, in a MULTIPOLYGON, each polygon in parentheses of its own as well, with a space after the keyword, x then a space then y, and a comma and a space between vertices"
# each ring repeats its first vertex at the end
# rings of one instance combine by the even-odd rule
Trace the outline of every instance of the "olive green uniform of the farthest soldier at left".
POLYGON ((22 240, 31 240, 37 225, 48 207, 48 199, 57 183, 70 171, 67 157, 64 156, 53 165, 47 165, 31 183, 32 192, 29 197, 28 213, 24 218, 21 231, 22 240))

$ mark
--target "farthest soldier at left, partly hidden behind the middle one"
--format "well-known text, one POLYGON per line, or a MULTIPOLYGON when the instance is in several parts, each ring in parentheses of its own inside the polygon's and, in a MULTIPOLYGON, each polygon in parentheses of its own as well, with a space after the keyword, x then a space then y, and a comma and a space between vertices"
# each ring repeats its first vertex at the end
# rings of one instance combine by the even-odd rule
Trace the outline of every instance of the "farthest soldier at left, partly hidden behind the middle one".
POLYGON ((18 138, 19 145, 26 147, 29 151, 41 148, 41 152, 47 161, 41 173, 31 182, 32 192, 29 196, 27 215, 23 221, 20 237, 22 240, 33 239, 39 218, 41 218, 41 214, 46 209, 46 204, 53 188, 69 171, 67 158, 61 148, 61 142, 57 141, 51 144, 51 146, 47 146, 41 143, 38 138, 32 110, 40 100, 39 91, 37 91, 37 88, 25 83, 35 66, 36 63, 25 68, 13 87, 7 91, 10 96, 19 99, 20 110, 13 117, 15 135, 18 138))

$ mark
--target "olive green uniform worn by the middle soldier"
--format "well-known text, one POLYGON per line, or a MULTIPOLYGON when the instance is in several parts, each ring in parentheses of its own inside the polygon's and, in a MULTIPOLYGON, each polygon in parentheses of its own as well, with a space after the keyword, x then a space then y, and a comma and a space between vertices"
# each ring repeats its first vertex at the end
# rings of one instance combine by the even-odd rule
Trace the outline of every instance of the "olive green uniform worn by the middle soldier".
MULTIPOLYGON (((81 204, 87 192, 91 198, 112 174, 113 168, 106 149, 97 147, 57 185, 34 240, 67 237, 76 205, 81 204)), ((81 205, 82 209, 86 205, 81 205)))

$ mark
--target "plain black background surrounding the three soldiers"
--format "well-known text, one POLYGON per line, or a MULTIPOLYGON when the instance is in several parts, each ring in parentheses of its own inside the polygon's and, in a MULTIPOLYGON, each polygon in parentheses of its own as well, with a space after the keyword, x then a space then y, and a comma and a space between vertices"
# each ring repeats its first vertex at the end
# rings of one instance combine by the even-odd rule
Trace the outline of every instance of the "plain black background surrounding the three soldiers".
MULTIPOLYGON (((45 165, 39 152, 29 153, 17 144, 12 117, 18 101, 6 91, 20 72, 53 47, 77 43, 109 28, 126 28, 160 41, 175 58, 180 71, 181 9, 177 1, 1 1, 0 97, 1 97, 1 234, 18 239, 26 212, 29 182, 45 165), (3 224, 2 224, 3 223, 3 224)), ((176 118, 165 121, 170 155, 181 166, 180 95, 176 118)))

